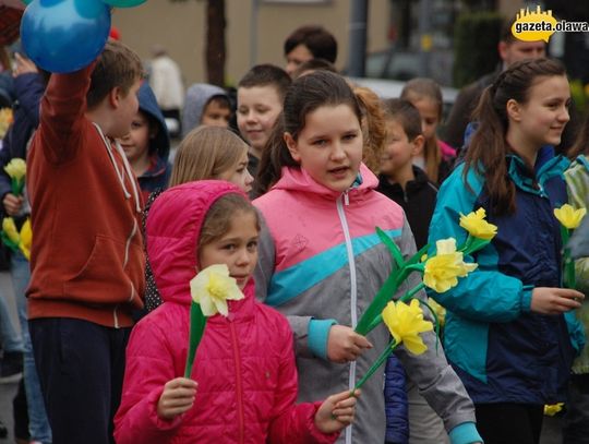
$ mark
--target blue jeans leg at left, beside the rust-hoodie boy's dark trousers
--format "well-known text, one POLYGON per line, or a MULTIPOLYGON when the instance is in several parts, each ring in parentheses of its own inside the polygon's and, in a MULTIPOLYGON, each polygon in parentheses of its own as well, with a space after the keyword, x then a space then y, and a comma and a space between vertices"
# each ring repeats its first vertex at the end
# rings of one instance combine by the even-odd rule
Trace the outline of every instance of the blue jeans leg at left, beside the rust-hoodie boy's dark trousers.
POLYGON ((51 428, 49 427, 49 420, 45 412, 45 404, 40 391, 37 369, 35 368, 35 358, 33 356, 33 346, 28 334, 26 315, 25 291, 28 281, 31 280, 31 269, 28 261, 21 252, 11 254, 11 276, 24 343, 24 384, 28 410, 28 433, 31 434, 32 441, 40 441, 43 444, 50 444, 51 428))

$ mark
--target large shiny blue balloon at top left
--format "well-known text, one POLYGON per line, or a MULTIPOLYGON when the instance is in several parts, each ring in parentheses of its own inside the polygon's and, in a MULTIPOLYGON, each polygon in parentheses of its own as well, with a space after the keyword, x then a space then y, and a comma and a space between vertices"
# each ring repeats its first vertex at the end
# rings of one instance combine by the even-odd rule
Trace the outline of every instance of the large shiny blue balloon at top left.
POLYGON ((26 55, 49 72, 73 72, 101 52, 110 8, 100 0, 33 0, 21 21, 26 55))

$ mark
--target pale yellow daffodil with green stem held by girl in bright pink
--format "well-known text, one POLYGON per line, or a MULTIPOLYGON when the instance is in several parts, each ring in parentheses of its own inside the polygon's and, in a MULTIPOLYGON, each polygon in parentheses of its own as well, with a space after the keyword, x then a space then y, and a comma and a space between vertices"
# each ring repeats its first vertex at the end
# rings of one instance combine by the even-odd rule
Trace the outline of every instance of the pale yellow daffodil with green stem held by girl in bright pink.
POLYGON ((220 313, 229 314, 228 300, 243 299, 237 280, 229 276, 226 264, 211 265, 196 274, 190 281, 192 301, 190 305, 190 339, 184 377, 190 377, 196 349, 203 338, 206 319, 220 313))

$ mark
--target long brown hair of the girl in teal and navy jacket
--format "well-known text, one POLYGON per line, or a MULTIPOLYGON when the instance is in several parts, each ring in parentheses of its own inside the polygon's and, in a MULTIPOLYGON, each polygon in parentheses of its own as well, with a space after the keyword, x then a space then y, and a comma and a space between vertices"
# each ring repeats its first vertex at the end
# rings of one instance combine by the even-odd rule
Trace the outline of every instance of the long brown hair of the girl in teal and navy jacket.
POLYGON ((497 215, 513 214, 516 211, 515 184, 507 173, 505 159, 505 156, 512 153, 505 141, 509 127, 507 101, 514 99, 526 104, 538 77, 557 75, 566 75, 563 64, 557 60, 516 62, 484 89, 474 109, 473 118, 479 124, 467 149, 464 179, 468 187, 466 178, 471 168, 484 176, 491 208, 497 215))

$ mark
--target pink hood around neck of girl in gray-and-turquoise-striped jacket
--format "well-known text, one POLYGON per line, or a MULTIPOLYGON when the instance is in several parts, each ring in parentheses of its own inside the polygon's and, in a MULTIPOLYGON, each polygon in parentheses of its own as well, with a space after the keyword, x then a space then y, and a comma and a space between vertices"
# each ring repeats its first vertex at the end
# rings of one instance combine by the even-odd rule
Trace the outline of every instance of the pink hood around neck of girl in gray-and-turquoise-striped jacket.
MULTIPOLYGON (((375 189, 378 185, 378 179, 364 165, 360 164, 358 177, 350 187, 349 191, 352 194, 364 194, 365 192, 375 189)), ((287 191, 303 191, 322 195, 327 199, 337 199, 341 192, 334 191, 327 187, 316 182, 303 168, 283 167, 280 180, 272 187, 273 190, 287 191)))

